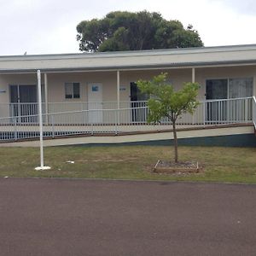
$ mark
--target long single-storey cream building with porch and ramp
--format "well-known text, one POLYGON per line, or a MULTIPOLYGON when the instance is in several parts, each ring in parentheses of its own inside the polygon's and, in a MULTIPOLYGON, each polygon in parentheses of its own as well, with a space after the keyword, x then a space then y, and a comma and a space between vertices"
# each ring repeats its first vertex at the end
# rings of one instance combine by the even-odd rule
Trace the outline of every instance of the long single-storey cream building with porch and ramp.
POLYGON ((38 70, 44 136, 60 137, 49 145, 168 141, 170 121, 147 123, 136 84, 160 73, 175 90, 201 85, 199 108, 178 120, 180 143, 256 145, 256 44, 0 56, 0 146, 38 137, 38 70))

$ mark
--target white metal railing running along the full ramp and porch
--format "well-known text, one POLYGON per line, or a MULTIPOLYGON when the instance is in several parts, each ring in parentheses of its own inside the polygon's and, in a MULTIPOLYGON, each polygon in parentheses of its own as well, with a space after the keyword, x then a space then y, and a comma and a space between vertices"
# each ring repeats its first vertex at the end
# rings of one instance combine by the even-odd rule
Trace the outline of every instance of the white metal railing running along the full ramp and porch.
MULTIPOLYGON (((172 129, 169 119, 162 119, 157 125, 148 124, 148 107, 145 105, 146 102, 136 102, 132 106, 139 107, 44 113, 44 137, 172 129)), ((255 108, 255 97, 202 101, 193 115, 187 113, 177 119, 177 125, 191 127, 255 122, 255 108)), ((29 110, 37 108, 33 106, 29 110)), ((0 141, 38 136, 38 113, 0 118, 0 141)))

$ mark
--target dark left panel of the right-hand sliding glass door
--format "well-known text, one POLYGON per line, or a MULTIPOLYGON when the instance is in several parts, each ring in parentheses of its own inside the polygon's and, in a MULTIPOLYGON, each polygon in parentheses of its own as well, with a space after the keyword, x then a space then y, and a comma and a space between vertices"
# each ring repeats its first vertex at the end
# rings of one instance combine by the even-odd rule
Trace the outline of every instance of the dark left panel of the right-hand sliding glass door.
MULTIPOLYGON (((228 79, 207 80, 207 100, 219 100, 228 98, 228 79)), ((227 102, 210 101, 206 106, 206 121, 219 123, 227 119, 227 102)))

